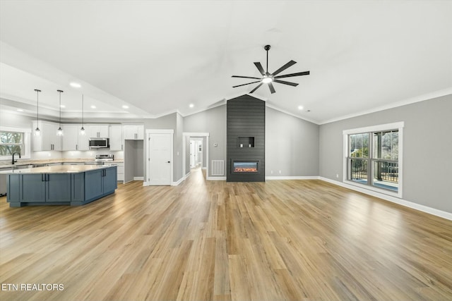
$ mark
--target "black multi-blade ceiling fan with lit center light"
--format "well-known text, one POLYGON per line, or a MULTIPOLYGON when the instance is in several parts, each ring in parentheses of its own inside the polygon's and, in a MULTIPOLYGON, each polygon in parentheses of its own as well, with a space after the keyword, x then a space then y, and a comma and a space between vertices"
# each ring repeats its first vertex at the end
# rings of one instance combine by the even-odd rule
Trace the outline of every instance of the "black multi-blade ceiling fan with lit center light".
POLYGON ((254 78, 252 76, 232 75, 232 78, 252 78, 252 79, 256 80, 255 82, 248 82, 248 83, 243 84, 243 85, 233 86, 233 88, 241 87, 241 86, 244 86, 244 85, 255 84, 256 82, 261 82, 259 85, 257 85, 257 87, 255 87, 253 90, 251 90, 250 93, 253 93, 254 91, 258 90, 258 88, 261 87, 261 85, 267 84, 268 88, 270 89, 270 92, 272 92, 272 94, 273 94, 276 91, 275 91, 275 88, 273 87, 272 82, 278 82, 279 84, 290 85, 290 86, 293 86, 293 87, 296 87, 298 85, 296 82, 286 82, 285 80, 279 80, 279 78, 291 78, 292 76, 309 75, 309 71, 298 72, 298 73, 290 73, 290 74, 285 74, 285 75, 278 75, 279 73, 281 73, 285 69, 287 69, 290 66, 294 65, 295 63, 297 63, 296 61, 292 61, 292 60, 289 61, 289 63, 286 63, 284 66, 282 66, 278 70, 276 70, 275 72, 268 73, 268 50, 270 50, 270 45, 266 45, 265 47, 263 47, 263 49, 266 49, 266 51, 267 51, 267 70, 266 71, 263 70, 261 63, 254 62, 254 65, 256 66, 256 68, 258 68, 259 72, 262 75, 262 78, 254 78), (276 76, 276 75, 278 75, 278 76, 276 76))

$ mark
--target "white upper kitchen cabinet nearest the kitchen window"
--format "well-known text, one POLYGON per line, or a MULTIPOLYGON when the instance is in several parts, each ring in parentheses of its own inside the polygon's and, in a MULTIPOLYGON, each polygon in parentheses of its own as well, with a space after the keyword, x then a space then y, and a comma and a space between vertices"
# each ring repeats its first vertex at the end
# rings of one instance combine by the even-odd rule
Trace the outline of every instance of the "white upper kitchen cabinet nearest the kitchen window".
POLYGON ((61 151, 61 136, 57 135, 59 123, 47 121, 33 121, 33 130, 40 128, 40 135, 32 138, 32 149, 34 152, 57 150, 61 151))

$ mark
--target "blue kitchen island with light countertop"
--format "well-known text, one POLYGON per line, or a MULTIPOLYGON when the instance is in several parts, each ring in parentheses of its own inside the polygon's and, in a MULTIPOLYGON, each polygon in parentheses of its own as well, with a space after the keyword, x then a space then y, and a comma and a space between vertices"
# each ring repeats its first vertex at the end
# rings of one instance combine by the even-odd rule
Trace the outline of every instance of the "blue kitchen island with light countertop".
POLYGON ((116 165, 60 165, 4 173, 9 207, 81 206, 117 189, 116 165))

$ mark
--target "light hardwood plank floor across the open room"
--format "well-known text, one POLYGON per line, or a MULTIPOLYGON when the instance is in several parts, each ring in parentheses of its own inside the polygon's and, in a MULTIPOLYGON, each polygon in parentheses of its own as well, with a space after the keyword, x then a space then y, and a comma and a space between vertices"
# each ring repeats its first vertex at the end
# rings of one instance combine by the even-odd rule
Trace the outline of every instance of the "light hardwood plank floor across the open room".
POLYGON ((452 221, 321 180, 196 170, 83 207, 2 197, 0 230, 3 285, 64 285, 0 300, 452 300, 452 221))

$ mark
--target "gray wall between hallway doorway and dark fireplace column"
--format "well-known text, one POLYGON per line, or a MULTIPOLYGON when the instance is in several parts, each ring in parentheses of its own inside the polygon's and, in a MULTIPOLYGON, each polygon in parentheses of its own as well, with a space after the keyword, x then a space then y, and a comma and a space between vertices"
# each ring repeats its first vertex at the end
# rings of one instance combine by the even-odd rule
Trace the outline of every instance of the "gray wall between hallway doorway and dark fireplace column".
MULTIPOLYGON (((210 133, 209 135, 209 177, 212 176, 212 160, 225 160, 226 163, 226 105, 202 111, 184 118, 184 132, 210 133), (214 147, 214 144, 218 147, 214 147)), ((206 147, 204 144, 203 147, 206 147)), ((204 160, 206 156, 204 154, 204 160)), ((188 160, 190 158, 188 157, 188 160)), ((186 172, 190 168, 186 169, 186 172)), ((225 166, 226 170, 226 166, 225 166)), ((226 176, 226 175, 225 175, 226 176)))

